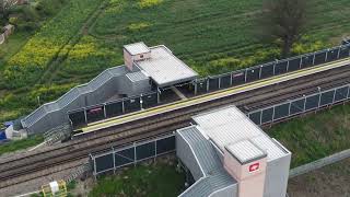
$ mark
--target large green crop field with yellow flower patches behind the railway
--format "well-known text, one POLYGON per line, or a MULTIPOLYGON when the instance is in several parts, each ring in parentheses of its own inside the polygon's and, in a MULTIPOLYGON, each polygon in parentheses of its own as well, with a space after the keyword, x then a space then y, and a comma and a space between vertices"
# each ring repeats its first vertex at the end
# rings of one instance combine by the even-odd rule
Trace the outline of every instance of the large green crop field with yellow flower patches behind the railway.
MULTIPOLYGON (((81 1, 69 2, 77 5, 81 1)), ((20 53, 7 58, 13 61, 3 60, 7 72, 0 66, 0 121, 35 109, 36 97, 31 95, 36 95, 38 89, 46 89, 46 93, 40 91, 45 95, 52 94, 43 102, 52 101, 68 88, 88 82, 108 67, 124 63, 121 47, 133 42, 143 40, 149 46, 164 44, 202 76, 279 57, 278 45, 261 42, 256 33, 261 0, 163 0, 145 1, 147 5, 141 5, 140 0, 106 0, 108 4, 82 31, 82 37, 75 37, 78 43, 68 42, 85 23, 75 15, 92 15, 95 12, 91 8, 97 1, 89 2, 62 10, 51 23, 31 37, 36 40, 44 35, 45 42, 35 42, 36 50, 32 51, 27 46, 19 47, 20 53), (77 13, 79 9, 84 12, 77 13), (85 12, 89 9, 91 12, 85 12), (56 21, 65 23, 49 25, 56 21), (47 65, 57 58, 59 62, 51 67, 47 65), (21 61, 21 66, 14 63, 20 60, 25 61, 21 61), (4 90, 9 85, 13 89, 4 90), (48 89, 51 85, 55 90, 48 89)), ((343 35, 349 35, 347 13, 350 8, 343 5, 347 2, 315 0, 308 32, 295 46, 294 54, 338 45, 343 35)))

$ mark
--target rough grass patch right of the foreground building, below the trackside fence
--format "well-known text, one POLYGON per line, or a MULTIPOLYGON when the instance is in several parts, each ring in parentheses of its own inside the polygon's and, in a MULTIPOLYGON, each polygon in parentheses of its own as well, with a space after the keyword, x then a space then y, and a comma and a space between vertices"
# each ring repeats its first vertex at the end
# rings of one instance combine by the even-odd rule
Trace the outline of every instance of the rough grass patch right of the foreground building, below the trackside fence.
POLYGON ((266 130, 292 152, 291 167, 350 149, 350 105, 292 119, 266 130))

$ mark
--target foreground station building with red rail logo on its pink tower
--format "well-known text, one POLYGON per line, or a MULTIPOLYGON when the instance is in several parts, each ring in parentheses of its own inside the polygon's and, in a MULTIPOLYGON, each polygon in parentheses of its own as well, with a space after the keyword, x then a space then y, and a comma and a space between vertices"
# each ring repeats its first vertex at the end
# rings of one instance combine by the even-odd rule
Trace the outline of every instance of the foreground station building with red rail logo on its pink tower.
POLYGON ((235 106, 192 117, 177 130, 176 155, 195 183, 180 197, 285 196, 291 152, 235 106))

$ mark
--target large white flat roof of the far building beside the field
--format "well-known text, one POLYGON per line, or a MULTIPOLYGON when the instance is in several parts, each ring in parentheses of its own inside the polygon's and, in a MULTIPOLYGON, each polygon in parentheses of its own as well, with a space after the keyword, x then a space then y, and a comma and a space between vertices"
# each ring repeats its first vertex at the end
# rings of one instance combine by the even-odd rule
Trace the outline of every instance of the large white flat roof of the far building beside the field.
POLYGON ((136 65, 150 74, 159 86, 190 81, 198 76, 163 45, 151 47, 151 58, 136 65))

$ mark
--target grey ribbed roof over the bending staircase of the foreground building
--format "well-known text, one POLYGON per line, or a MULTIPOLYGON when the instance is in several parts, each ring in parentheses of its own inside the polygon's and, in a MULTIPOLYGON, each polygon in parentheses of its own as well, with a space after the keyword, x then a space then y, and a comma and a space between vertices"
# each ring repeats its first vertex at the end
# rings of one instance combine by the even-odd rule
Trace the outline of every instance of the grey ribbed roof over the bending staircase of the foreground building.
POLYGON ((198 165, 203 172, 203 177, 199 178, 179 196, 209 196, 219 189, 237 184, 223 169, 223 164, 213 146, 201 135, 196 126, 177 130, 177 134, 191 147, 191 153, 198 159, 198 165))

